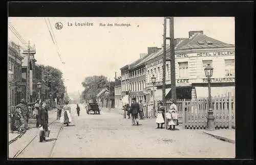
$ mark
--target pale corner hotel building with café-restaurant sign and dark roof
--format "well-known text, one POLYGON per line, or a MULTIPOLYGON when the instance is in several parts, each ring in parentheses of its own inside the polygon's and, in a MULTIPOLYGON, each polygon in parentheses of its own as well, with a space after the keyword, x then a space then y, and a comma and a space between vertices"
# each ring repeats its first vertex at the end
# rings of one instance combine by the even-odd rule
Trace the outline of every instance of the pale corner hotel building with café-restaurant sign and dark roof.
MULTIPOLYGON (((234 93, 234 45, 218 41, 203 34, 203 31, 189 32, 175 46, 175 75, 177 99, 208 97, 208 83, 204 68, 214 67, 211 78, 211 95, 234 93)), ((163 50, 149 59, 146 66, 146 87, 153 90, 151 77, 156 77, 155 99, 162 100, 162 57, 163 50)), ((166 58, 170 57, 169 46, 166 58)), ((166 98, 170 99, 170 63, 166 61, 166 98)))

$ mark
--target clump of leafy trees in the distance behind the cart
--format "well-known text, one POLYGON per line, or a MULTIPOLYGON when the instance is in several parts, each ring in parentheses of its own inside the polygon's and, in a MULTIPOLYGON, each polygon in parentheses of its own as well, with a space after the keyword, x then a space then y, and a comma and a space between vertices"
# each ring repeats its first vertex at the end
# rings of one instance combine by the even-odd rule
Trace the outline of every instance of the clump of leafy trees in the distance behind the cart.
MULTIPOLYGON (((120 79, 121 77, 115 78, 115 81, 120 79)), ((81 100, 83 101, 96 100, 98 93, 104 88, 109 89, 110 93, 104 93, 102 96, 100 96, 100 99, 115 99, 115 82, 108 81, 108 78, 105 76, 101 75, 86 77, 82 82, 82 86, 84 87, 81 95, 81 100)))

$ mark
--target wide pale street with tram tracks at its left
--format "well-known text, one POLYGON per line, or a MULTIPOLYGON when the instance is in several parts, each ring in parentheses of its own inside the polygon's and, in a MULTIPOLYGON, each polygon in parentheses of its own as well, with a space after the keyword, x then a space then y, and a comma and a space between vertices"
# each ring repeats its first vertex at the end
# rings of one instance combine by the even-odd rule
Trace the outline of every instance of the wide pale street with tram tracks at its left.
MULTIPOLYGON (((155 129, 154 119, 140 120, 131 126, 130 119, 121 114, 101 111, 87 114, 80 105, 77 116, 72 105, 73 120, 69 127, 55 121, 51 126, 50 142, 38 143, 38 136, 19 155, 19 158, 233 158, 235 145, 218 140, 202 130, 169 131, 155 129), (59 133, 60 131, 60 133, 59 133), (58 135, 59 133, 59 135, 58 135), (40 151, 40 152, 35 152, 40 151), (132 151, 132 152, 131 152, 132 151)), ((33 132, 34 135, 37 131, 33 132)), ((28 135, 17 140, 25 143, 28 135)), ((17 146, 16 146, 17 148, 17 146)), ((14 152, 14 151, 13 151, 14 152)), ((10 155, 11 156, 11 155, 10 155)))

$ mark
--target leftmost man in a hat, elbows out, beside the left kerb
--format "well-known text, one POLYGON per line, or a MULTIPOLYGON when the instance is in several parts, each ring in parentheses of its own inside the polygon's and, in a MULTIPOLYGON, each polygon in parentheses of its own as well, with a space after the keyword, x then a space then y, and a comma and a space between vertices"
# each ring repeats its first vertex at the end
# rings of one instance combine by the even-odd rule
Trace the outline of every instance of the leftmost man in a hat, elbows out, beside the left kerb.
POLYGON ((24 127, 25 129, 28 128, 29 122, 29 106, 34 105, 34 103, 27 103, 25 99, 20 100, 20 103, 15 106, 15 108, 20 108, 22 110, 23 120, 24 120, 24 127))

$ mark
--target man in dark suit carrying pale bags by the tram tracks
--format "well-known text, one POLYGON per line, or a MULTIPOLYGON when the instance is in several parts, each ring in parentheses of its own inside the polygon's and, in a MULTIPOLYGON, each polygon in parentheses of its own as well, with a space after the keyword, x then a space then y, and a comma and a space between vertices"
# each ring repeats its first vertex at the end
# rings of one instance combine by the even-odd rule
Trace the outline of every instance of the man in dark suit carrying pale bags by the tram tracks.
POLYGON ((40 119, 39 130, 41 128, 43 130, 39 135, 39 142, 46 142, 45 131, 48 131, 48 110, 46 102, 42 102, 42 105, 39 107, 38 116, 40 119))

